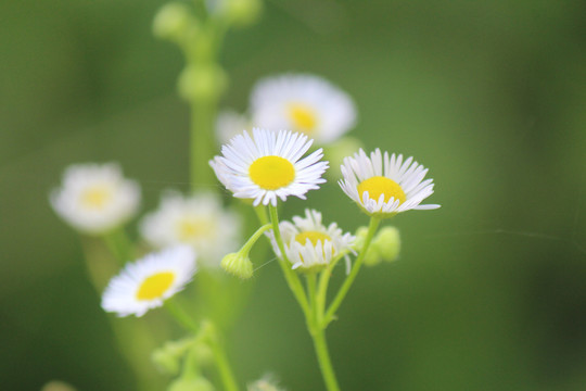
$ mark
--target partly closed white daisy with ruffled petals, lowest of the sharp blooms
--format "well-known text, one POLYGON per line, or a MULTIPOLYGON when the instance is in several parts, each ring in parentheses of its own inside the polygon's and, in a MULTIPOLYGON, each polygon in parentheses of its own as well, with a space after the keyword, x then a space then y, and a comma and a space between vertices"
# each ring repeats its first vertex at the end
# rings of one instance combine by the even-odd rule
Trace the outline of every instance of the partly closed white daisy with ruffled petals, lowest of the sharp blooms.
MULTIPOLYGON (((292 219, 293 223, 281 222, 279 229, 293 269, 319 270, 329 265, 335 255, 352 251, 351 244, 356 238, 351 234, 343 234, 335 223, 326 227, 318 211, 305 210, 305 217, 294 216, 292 219)), ((272 231, 267 235, 275 252, 281 256, 272 231)))

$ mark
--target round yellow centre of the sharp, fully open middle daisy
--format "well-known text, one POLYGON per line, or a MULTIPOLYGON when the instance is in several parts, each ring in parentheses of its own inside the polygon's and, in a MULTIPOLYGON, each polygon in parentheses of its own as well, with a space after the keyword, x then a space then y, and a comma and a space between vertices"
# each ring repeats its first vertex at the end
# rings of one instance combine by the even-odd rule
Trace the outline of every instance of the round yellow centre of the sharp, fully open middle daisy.
POLYGON ((277 190, 295 179, 295 167, 281 156, 263 156, 251 164, 249 175, 262 189, 277 190))

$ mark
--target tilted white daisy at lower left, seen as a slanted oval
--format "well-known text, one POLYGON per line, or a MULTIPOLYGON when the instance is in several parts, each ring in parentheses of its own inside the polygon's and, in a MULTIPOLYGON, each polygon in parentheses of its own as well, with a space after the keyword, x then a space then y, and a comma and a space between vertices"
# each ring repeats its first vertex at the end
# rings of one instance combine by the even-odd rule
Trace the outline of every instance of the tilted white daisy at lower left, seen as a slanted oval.
POLYGON ((107 285, 102 308, 118 316, 142 316, 181 291, 195 274, 195 251, 177 245, 128 264, 107 285))

